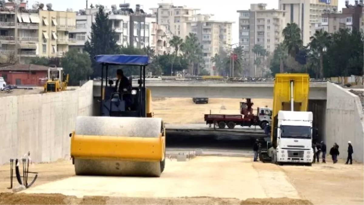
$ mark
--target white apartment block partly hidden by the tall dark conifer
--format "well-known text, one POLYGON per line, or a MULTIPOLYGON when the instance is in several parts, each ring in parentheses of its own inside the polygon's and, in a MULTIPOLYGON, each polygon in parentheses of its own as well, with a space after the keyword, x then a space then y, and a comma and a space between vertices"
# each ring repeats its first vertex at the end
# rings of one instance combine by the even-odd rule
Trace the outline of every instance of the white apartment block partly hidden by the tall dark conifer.
MULTIPOLYGON (((119 9, 116 8, 116 5, 112 5, 110 11, 105 11, 109 13, 110 24, 115 30, 118 45, 133 45, 136 48, 151 47, 153 39, 150 27, 156 21, 155 16, 144 13, 138 5, 131 12, 129 5, 120 4, 119 9)), ((83 51, 98 10, 98 8, 86 8, 76 12, 76 29, 69 35, 69 38, 72 39, 71 47, 83 51)))

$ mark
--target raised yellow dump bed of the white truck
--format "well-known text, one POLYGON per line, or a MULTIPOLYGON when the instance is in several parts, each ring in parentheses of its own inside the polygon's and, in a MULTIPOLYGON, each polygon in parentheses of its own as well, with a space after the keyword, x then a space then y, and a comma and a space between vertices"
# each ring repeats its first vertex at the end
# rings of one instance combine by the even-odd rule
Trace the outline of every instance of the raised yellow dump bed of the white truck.
POLYGON ((277 133, 274 128, 278 124, 278 111, 291 110, 291 82, 293 81, 294 111, 307 111, 310 77, 308 74, 276 74, 273 91, 273 113, 271 140, 276 145, 277 133))

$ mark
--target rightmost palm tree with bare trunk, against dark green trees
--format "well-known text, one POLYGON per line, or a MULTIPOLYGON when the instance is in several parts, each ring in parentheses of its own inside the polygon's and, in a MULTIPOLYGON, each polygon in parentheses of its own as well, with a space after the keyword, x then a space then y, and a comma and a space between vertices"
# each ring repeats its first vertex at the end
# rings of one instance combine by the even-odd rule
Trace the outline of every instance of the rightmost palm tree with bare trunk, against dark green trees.
POLYGON ((324 30, 316 31, 313 36, 310 37, 311 42, 309 47, 312 50, 316 50, 320 55, 320 78, 324 77, 324 53, 326 48, 329 47, 331 43, 331 35, 324 30))

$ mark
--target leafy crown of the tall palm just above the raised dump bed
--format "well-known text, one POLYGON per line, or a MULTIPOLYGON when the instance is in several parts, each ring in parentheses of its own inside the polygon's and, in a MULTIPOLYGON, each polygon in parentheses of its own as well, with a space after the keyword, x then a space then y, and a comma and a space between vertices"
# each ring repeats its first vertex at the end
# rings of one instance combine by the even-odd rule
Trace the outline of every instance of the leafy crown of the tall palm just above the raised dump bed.
POLYGON ((301 29, 296 23, 288 23, 282 32, 284 36, 284 44, 287 48, 288 54, 293 58, 303 46, 301 39, 301 29))

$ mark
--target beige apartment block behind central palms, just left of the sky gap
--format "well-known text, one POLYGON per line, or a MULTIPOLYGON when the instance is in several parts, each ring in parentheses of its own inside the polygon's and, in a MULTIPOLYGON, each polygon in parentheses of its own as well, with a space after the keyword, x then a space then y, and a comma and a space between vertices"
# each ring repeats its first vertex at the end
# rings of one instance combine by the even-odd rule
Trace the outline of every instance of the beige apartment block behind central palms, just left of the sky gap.
POLYGON ((230 52, 232 45, 232 25, 235 22, 211 20, 211 14, 194 15, 193 21, 187 22, 187 33, 197 35, 202 45, 205 69, 210 75, 216 75, 215 65, 211 58, 221 50, 230 52))

